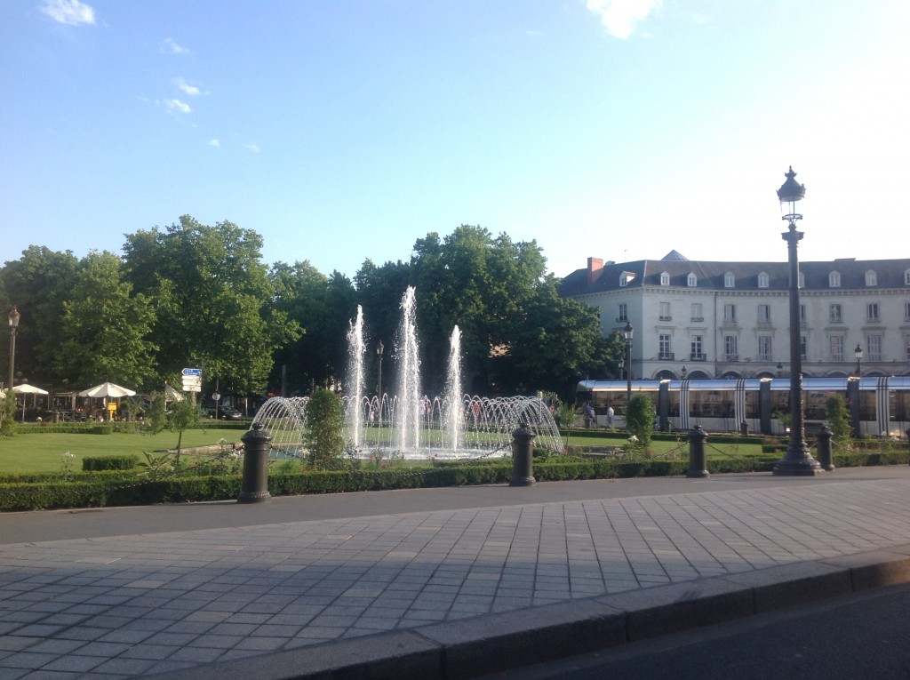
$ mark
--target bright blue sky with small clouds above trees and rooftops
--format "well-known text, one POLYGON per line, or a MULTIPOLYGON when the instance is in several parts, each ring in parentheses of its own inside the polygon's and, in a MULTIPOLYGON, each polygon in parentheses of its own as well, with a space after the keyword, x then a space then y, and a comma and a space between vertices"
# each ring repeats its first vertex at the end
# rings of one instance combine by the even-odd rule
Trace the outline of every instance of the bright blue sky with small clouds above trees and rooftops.
POLYGON ((905 0, 7 0, 0 261, 188 214, 353 276, 481 225, 588 257, 908 257, 905 0))

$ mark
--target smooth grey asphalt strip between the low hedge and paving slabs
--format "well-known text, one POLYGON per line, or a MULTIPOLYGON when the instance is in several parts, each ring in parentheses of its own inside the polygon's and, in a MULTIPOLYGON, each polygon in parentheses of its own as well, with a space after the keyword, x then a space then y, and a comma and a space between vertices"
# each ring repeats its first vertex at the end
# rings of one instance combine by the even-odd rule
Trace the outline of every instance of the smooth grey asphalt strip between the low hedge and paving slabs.
POLYGON ((770 472, 713 475, 708 479, 654 477, 585 482, 411 489, 389 492, 284 496, 268 502, 182 503, 127 508, 0 514, 0 543, 219 529, 381 514, 495 507, 540 502, 631 498, 674 493, 910 478, 910 466, 844 468, 817 477, 775 477, 770 472))

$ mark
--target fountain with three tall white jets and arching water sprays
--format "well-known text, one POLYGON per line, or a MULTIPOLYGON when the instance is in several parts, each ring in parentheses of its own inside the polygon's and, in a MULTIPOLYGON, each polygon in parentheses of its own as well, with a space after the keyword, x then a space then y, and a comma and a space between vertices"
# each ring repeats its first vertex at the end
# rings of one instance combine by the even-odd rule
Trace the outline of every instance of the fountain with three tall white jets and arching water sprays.
MULTIPOLYGON (((536 445, 562 452, 562 441, 547 405, 537 397, 485 398, 462 393, 461 331, 450 335, 447 380, 441 397, 420 393, 415 289, 401 299, 401 325, 393 354, 398 361, 398 391, 369 397, 364 389, 364 323, 348 332, 349 369, 345 382, 347 439, 359 458, 396 456, 411 460, 485 458, 511 455, 511 433, 526 424, 536 445)), ((273 397, 259 409, 255 423, 272 435, 279 457, 304 448, 308 397, 273 397)))

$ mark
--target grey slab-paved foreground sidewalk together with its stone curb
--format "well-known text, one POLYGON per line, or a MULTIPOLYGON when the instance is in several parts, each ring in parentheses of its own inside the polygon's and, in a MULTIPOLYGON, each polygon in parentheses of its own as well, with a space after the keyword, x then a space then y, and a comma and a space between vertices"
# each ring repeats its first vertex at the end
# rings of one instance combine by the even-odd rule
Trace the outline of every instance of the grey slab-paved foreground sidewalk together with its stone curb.
POLYGON ((470 677, 910 580, 910 472, 836 474, 0 544, 0 680, 470 677))

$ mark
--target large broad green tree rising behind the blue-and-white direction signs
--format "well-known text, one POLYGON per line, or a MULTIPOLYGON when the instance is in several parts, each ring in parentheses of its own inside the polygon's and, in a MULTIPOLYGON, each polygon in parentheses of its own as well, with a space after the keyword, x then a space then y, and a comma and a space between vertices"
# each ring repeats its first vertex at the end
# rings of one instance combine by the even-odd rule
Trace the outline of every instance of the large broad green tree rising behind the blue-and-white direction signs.
POLYGON ((152 340, 160 380, 193 365, 227 391, 265 388, 273 352, 300 329, 272 304, 261 248, 251 229, 227 221, 209 227, 187 215, 126 236, 127 279, 157 302, 152 340))

